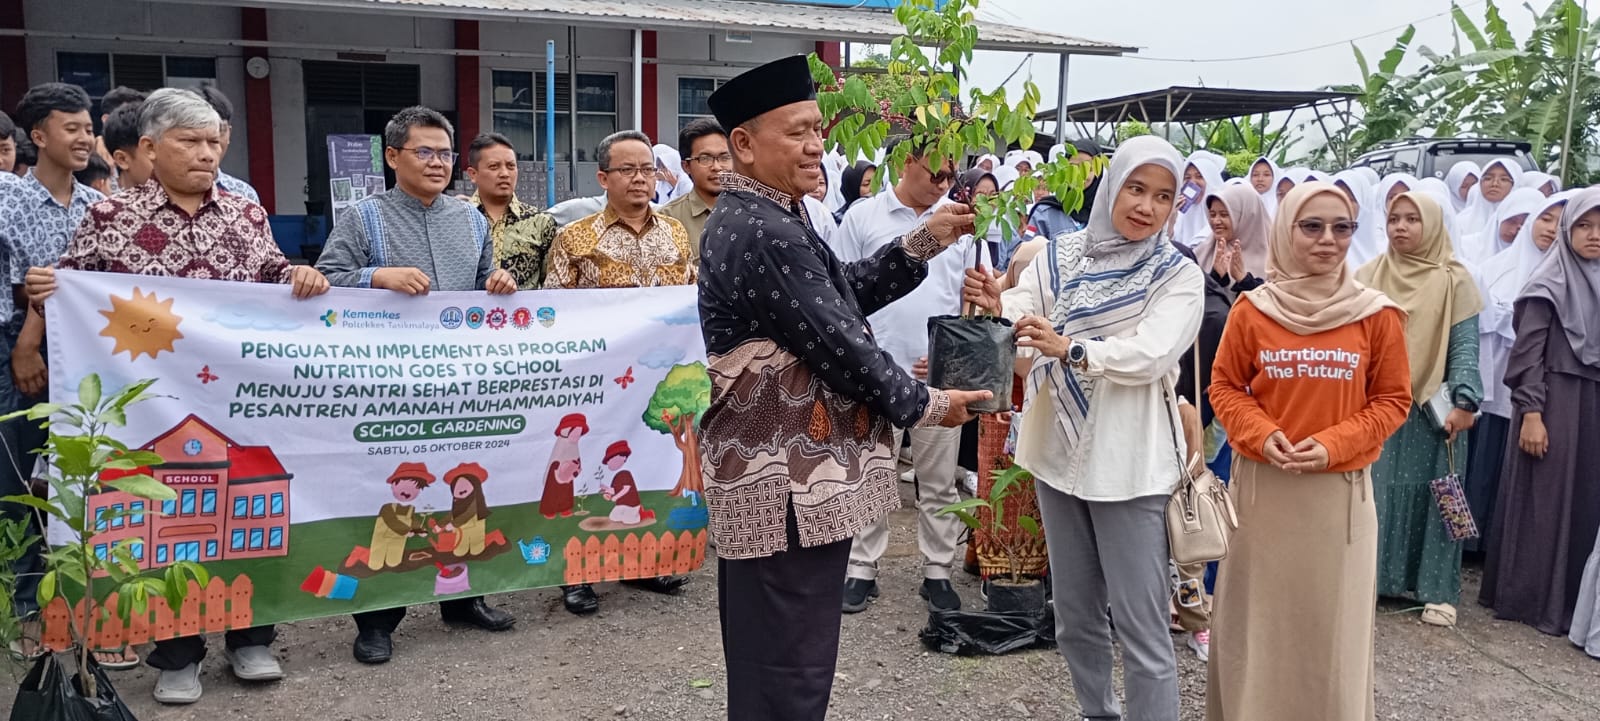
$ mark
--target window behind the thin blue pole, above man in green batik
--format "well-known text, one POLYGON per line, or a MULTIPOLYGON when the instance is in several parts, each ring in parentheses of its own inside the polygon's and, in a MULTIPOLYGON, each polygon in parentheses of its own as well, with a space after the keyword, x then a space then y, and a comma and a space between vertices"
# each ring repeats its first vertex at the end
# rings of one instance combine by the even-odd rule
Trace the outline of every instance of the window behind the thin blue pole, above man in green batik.
MULTIPOLYGON (((546 75, 533 70, 493 72, 494 131, 510 139, 518 160, 546 157, 546 75)), ((555 160, 573 158, 573 86, 555 75, 555 160)), ((594 161, 595 147, 618 131, 616 75, 578 74, 578 161, 594 161)))

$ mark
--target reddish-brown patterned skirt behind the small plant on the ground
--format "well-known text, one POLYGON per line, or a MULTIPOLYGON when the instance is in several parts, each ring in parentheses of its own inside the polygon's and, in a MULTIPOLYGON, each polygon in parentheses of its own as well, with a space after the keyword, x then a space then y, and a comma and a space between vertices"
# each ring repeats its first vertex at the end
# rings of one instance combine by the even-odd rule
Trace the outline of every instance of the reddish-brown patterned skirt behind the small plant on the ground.
MULTIPOLYGON (((1013 408, 1022 404, 1022 384, 1014 384, 1011 395, 1013 408)), ((1013 416, 1014 417, 1014 416, 1013 416)), ((979 416, 978 419, 978 497, 987 499, 994 489, 997 470, 1011 467, 1011 424, 997 416, 979 416)), ((1016 524, 1019 515, 1032 516, 1038 521, 1038 496, 1034 494, 1034 481, 1022 481, 1006 499, 1002 524, 1005 531, 978 531, 973 534, 973 547, 978 550, 978 569, 986 577, 1006 576, 1011 572, 1005 545, 1018 548, 1018 564, 1024 576, 1043 579, 1050 571, 1050 553, 1045 550, 1045 537, 1032 536, 1016 524)), ((989 524, 992 513, 979 512, 979 520, 989 524)))

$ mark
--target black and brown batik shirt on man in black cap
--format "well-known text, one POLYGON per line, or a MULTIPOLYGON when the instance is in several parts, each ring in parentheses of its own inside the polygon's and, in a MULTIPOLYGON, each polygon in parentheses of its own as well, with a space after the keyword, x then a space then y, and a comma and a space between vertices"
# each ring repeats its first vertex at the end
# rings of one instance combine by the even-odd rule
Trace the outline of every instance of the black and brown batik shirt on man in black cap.
POLYGON ((949 395, 878 349, 867 315, 917 288, 939 249, 918 225, 842 264, 797 198, 723 176, 699 281, 712 380, 701 468, 722 558, 789 550, 790 507, 803 547, 899 507, 893 427, 938 424, 949 395))

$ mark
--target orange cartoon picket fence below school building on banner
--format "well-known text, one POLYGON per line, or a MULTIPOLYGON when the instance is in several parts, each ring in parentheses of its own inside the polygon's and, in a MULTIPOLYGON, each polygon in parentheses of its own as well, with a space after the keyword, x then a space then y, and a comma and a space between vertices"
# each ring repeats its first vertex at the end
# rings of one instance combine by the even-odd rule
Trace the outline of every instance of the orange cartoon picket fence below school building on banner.
MULTIPOLYGON (((98 649, 117 649, 123 644, 134 646, 147 641, 195 636, 200 633, 221 633, 235 628, 250 628, 254 614, 250 611, 250 600, 256 587, 248 576, 234 579, 234 584, 213 576, 205 590, 198 584, 189 582, 189 595, 184 596, 178 614, 166 604, 165 598, 154 596, 144 614, 133 614, 126 623, 120 619, 96 614, 94 631, 90 639, 98 649)), ((112 593, 101 604, 115 614, 117 595, 112 593)), ((83 601, 72 611, 77 622, 83 622, 83 601)), ((45 607, 45 646, 62 651, 72 646, 69 630, 67 601, 56 596, 45 607)))

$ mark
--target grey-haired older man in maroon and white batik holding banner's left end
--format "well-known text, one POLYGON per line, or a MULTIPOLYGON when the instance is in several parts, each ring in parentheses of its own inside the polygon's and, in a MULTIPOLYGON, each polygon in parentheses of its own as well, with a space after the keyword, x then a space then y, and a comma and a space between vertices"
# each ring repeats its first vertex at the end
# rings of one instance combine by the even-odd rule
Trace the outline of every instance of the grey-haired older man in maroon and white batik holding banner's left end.
MULTIPOLYGON (((272 240, 266 209, 243 195, 218 189, 221 125, 216 110, 195 93, 173 88, 152 93, 139 109, 138 149, 152 161, 152 177, 91 205, 56 267, 283 283, 299 299, 326 293, 328 280, 317 269, 290 265, 283 257, 272 240)), ((50 267, 29 269, 27 293, 35 309, 42 309, 54 291, 54 280, 50 267)), ((227 631, 224 644, 234 675, 245 681, 283 678, 270 649, 275 635, 270 625, 227 631)), ((202 636, 157 641, 146 659, 162 671, 155 700, 200 700, 203 659, 202 636)))

